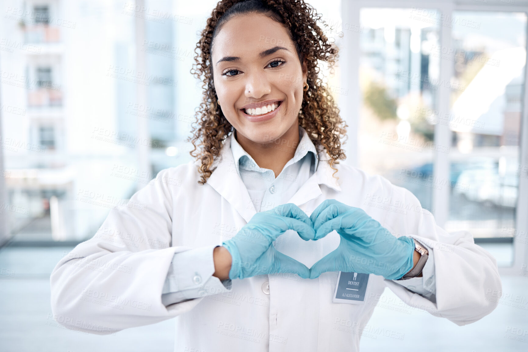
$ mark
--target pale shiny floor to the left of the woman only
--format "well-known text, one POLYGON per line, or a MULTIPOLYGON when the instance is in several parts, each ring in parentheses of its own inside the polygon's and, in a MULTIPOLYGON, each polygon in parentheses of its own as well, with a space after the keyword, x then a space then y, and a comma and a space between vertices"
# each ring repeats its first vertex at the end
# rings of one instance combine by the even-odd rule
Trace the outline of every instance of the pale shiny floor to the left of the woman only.
POLYGON ((8 248, 0 251, 0 351, 171 352, 174 321, 131 328, 116 335, 67 330, 50 318, 50 273, 71 248, 8 248), (4 271, 6 273, 6 271, 4 271))

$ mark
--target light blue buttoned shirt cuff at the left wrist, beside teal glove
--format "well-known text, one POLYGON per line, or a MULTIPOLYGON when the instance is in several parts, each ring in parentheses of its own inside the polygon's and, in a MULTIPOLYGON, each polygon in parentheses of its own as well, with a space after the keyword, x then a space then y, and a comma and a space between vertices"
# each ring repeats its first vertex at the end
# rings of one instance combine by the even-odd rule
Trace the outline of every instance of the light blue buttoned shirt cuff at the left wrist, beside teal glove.
POLYGON ((231 280, 220 281, 213 276, 213 250, 217 246, 205 246, 174 254, 162 290, 162 302, 165 306, 231 291, 231 280))

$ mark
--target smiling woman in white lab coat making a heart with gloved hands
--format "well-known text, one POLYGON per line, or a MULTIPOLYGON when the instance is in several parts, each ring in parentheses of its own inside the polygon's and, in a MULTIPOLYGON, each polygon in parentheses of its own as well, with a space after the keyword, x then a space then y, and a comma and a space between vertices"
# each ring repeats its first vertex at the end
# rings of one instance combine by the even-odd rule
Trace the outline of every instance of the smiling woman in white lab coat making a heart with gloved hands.
POLYGON ((58 263, 56 320, 108 334, 176 317, 175 351, 356 351, 385 286, 457 325, 493 311, 496 261, 469 233, 338 164, 346 126, 317 68, 337 49, 317 18, 301 0, 218 3, 196 51, 196 161, 58 263))

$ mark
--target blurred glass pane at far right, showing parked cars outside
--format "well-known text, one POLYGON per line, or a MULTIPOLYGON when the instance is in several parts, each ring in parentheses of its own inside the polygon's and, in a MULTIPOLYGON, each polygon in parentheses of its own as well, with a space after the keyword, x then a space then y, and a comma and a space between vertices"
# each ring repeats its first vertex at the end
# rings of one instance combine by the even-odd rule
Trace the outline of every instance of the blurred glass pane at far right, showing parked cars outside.
POLYGON ((449 128, 453 146, 446 230, 512 237, 526 63, 526 14, 455 11, 449 128), (463 25, 474 23, 475 25, 463 25))

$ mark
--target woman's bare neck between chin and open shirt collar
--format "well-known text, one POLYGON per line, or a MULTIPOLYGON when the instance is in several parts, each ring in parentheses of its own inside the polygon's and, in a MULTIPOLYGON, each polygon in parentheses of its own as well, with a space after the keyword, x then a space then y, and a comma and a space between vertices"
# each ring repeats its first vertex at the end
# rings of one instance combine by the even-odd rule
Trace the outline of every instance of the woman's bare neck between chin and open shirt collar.
POLYGON ((288 160, 295 155, 299 145, 299 125, 294 123, 284 135, 268 144, 254 142, 237 134, 236 130, 235 138, 259 167, 273 170, 277 177, 288 160))

